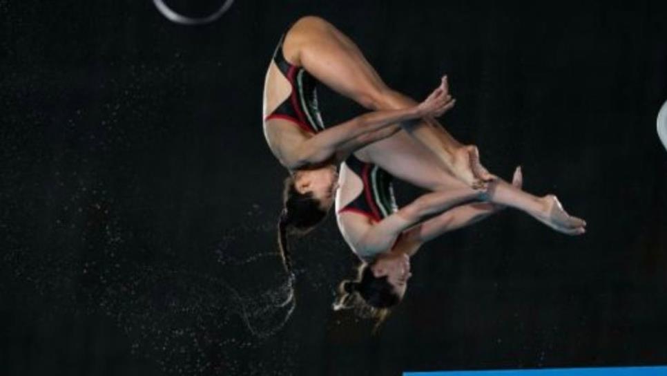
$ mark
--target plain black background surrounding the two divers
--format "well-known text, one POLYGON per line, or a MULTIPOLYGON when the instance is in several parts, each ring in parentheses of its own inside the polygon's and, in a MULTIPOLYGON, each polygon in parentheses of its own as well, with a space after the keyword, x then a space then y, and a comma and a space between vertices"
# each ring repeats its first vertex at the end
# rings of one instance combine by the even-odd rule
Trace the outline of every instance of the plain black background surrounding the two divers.
MULTIPOLYGON (((0 0, 0 373, 667 363, 666 15, 661 1, 238 0, 185 27, 149 0, 0 0), (505 211, 442 236, 371 335, 331 311, 354 256, 329 218, 293 242, 290 315, 262 84, 309 14, 407 95, 447 73, 447 129, 496 173, 521 164, 525 189, 557 194, 588 233, 505 211)), ((362 111, 326 90, 322 107, 331 124, 362 111)))

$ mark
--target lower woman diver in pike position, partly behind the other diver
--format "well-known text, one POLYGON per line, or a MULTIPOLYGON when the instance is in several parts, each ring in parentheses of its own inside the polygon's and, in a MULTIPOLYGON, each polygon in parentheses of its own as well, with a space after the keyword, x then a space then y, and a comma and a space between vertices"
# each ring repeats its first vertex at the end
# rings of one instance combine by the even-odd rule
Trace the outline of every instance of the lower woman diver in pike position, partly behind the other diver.
MULTIPOLYGON (((512 185, 496 178, 483 191, 456 180, 438 167, 438 162, 430 153, 421 151, 413 140, 397 133, 358 151, 342 164, 336 192, 338 227, 362 263, 356 280, 340 284, 334 309, 371 308, 381 321, 388 309, 403 299, 407 279, 412 275, 409 258, 423 243, 476 223, 502 207, 521 209, 563 234, 586 232, 586 222, 568 215, 555 196, 536 197, 522 191, 520 168, 514 172, 512 185), (394 201, 390 171, 406 169, 386 163, 383 156, 392 147, 400 150, 397 157, 400 162, 418 169, 414 176, 434 177, 432 181, 412 179, 412 182, 437 188, 401 209, 397 209, 394 201), (360 158, 378 158, 383 167, 360 158), (468 203, 472 200, 486 202, 468 203)), ((410 176, 403 176, 406 177, 411 181, 410 176)))

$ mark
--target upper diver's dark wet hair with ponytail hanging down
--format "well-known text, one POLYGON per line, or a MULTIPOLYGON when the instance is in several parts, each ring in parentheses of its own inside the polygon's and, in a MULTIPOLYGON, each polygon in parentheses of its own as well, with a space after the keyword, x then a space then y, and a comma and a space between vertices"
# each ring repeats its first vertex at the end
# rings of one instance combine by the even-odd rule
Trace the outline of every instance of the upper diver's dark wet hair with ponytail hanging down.
POLYGON ((312 192, 302 194, 297 191, 291 176, 284 181, 282 200, 284 207, 278 218, 278 247, 285 270, 292 275, 288 235, 306 234, 327 216, 327 210, 322 209, 320 201, 313 197, 312 192))

